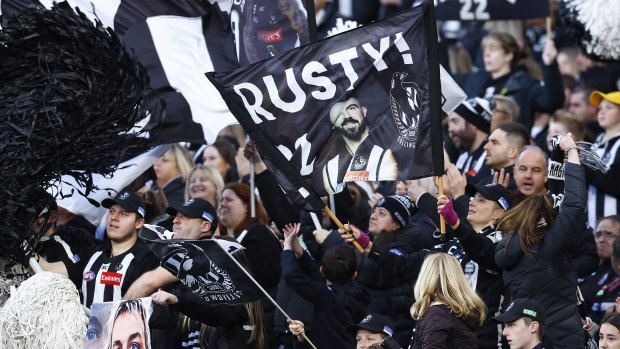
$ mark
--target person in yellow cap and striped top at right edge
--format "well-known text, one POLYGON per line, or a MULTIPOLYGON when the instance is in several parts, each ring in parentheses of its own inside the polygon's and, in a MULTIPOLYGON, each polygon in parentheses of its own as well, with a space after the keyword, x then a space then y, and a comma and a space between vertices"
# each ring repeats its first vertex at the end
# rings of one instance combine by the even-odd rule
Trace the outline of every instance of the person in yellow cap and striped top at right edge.
POLYGON ((599 107, 598 122, 605 130, 597 137, 592 150, 607 167, 606 173, 586 169, 588 223, 594 226, 599 217, 620 214, 620 92, 594 91, 590 102, 599 107))

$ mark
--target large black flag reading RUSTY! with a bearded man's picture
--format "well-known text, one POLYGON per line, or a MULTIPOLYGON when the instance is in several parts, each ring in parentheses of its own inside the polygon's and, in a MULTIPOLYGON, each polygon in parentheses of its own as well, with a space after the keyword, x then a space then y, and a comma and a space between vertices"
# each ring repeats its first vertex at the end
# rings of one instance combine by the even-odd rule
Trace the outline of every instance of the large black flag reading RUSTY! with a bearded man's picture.
POLYGON ((426 2, 209 78, 281 184, 302 197, 350 181, 435 175, 442 103, 461 100, 444 93, 442 101, 432 11, 426 2))

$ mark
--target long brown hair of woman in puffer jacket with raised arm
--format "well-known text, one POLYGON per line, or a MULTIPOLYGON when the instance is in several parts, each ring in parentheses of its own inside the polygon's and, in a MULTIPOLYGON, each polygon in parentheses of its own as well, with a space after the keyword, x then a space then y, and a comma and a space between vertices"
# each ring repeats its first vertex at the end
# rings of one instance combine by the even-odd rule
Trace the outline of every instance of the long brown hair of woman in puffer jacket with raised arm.
POLYGON ((542 241, 553 226, 558 212, 553 209, 553 200, 546 195, 533 195, 514 208, 508 210, 497 224, 497 230, 504 234, 513 232, 506 246, 510 244, 514 233, 519 233, 521 249, 530 258, 536 251, 532 245, 542 241))

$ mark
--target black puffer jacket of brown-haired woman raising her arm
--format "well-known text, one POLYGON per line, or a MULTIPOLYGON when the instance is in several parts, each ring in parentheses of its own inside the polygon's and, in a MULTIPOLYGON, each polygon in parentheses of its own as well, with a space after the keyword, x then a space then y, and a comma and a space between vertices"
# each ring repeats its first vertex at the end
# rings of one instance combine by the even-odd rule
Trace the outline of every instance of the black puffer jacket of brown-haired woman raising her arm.
POLYGON ((583 328, 576 304, 577 273, 569 254, 570 242, 586 219, 583 167, 565 164, 565 198, 560 214, 545 238, 532 246, 534 258, 525 255, 514 232, 499 242, 497 265, 513 298, 531 298, 545 310, 545 335, 555 348, 583 347, 583 328), (510 240, 510 244, 507 242, 510 240))

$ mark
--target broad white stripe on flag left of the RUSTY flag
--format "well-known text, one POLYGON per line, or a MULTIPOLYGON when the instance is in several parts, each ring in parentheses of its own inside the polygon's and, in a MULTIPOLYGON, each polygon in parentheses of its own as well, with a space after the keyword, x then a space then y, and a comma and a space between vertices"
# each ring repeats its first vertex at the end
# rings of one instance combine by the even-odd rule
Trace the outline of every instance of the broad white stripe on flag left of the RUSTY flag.
POLYGON ((204 75, 214 70, 202 32, 202 18, 157 16, 147 19, 153 44, 170 86, 189 103, 208 143, 221 129, 237 124, 220 93, 204 75))

